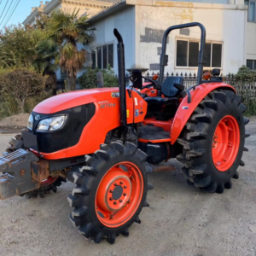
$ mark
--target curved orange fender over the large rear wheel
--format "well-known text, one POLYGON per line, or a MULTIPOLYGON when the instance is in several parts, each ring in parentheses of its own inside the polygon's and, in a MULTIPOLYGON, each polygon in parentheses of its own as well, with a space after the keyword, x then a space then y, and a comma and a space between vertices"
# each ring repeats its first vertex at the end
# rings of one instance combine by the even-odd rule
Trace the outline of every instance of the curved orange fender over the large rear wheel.
POLYGON ((180 103, 179 107, 177 108, 177 113, 175 114, 173 123, 172 123, 172 130, 171 130, 171 142, 172 145, 177 141, 181 131, 183 131, 184 126, 186 125, 187 121, 189 120, 191 114, 194 112, 195 108, 198 104, 203 100, 207 94, 209 94, 212 90, 216 89, 228 89, 236 90, 230 84, 224 83, 209 83, 209 84, 200 84, 195 87, 195 90, 190 90, 191 94, 191 103, 188 103, 188 96, 183 98, 183 101, 180 103))

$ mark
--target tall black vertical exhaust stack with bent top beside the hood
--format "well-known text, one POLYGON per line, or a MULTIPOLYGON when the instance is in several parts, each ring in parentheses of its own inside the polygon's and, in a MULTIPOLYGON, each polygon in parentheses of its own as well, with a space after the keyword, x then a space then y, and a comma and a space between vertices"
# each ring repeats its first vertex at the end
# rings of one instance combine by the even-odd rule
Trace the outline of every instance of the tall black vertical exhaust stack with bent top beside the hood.
POLYGON ((118 40, 118 63, 119 63, 119 99, 120 99, 120 111, 121 111, 121 124, 123 126, 124 143, 126 141, 127 134, 127 116, 126 116, 126 89, 125 89, 125 45, 123 38, 115 28, 113 30, 114 36, 118 40))

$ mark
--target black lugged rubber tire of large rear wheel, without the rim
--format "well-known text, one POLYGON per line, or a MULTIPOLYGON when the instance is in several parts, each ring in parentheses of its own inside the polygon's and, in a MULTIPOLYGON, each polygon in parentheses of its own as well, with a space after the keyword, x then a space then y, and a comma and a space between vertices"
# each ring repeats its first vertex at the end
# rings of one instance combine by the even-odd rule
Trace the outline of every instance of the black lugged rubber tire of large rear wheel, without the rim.
POLYGON ((182 174, 195 187, 209 193, 223 193, 232 186, 231 178, 238 178, 238 166, 244 166, 241 156, 244 148, 245 125, 249 119, 243 117, 246 106, 241 103, 241 96, 232 90, 213 90, 195 108, 186 124, 183 138, 177 143, 183 145, 183 153, 177 155, 177 160, 184 166, 182 174), (226 115, 234 117, 240 129, 240 145, 236 160, 225 172, 219 172, 212 160, 212 138, 218 122, 226 115))

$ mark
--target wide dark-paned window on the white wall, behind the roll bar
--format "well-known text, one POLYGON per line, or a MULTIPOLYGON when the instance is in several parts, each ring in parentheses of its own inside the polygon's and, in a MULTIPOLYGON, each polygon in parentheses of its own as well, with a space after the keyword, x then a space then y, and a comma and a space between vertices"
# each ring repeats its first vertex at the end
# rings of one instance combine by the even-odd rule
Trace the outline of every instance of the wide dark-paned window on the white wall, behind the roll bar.
MULTIPOLYGON (((177 40, 177 67, 197 67, 200 43, 188 40, 177 40)), ((222 44, 207 43, 205 47, 205 67, 221 67, 222 44)))

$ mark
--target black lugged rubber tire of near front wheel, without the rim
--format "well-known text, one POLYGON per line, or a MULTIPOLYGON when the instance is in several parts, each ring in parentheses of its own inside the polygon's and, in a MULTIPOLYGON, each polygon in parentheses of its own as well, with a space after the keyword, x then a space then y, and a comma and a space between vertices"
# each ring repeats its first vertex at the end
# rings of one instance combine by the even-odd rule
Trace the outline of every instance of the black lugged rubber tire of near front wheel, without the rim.
POLYGON ((101 145, 101 150, 95 154, 85 156, 86 166, 79 169, 79 172, 73 173, 72 180, 77 184, 73 189, 72 195, 67 197, 73 212, 70 219, 75 227, 79 227, 79 232, 86 238, 91 238, 96 243, 106 238, 111 244, 114 243, 116 236, 122 234, 129 236, 128 228, 134 222, 141 223, 138 218, 143 207, 149 207, 146 202, 147 190, 152 189, 148 186, 147 172, 152 172, 152 168, 145 160, 147 154, 138 149, 133 143, 126 142, 125 145, 120 142, 101 145), (143 195, 137 211, 132 213, 131 218, 119 227, 110 228, 99 220, 96 213, 96 193, 102 177, 110 168, 118 165, 122 161, 129 161, 136 165, 143 177, 143 195))

